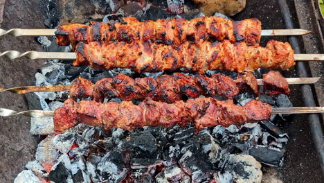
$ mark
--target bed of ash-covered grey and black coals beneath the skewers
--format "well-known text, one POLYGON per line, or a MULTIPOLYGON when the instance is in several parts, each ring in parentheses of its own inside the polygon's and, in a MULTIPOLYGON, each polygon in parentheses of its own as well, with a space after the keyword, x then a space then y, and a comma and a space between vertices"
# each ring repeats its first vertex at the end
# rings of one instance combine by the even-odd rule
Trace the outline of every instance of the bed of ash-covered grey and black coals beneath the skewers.
MULTIPOLYGON (((149 9, 143 13, 136 12, 136 15, 141 19, 171 17, 160 12, 149 9)), ((177 15, 186 19, 197 16, 204 15, 177 15)), ((103 21, 120 17, 123 14, 107 15, 103 21)), ((54 37, 39 37, 38 41, 45 51, 71 51, 69 46, 57 46, 54 37)), ((219 71, 207 71, 206 74, 216 72, 219 71)), ((260 78, 265 72, 258 70, 255 76, 260 78)), ((112 78, 116 73, 132 78, 156 78, 168 74, 138 74, 130 69, 95 71, 89 67, 72 67, 68 61, 48 60, 35 78, 36 85, 71 85, 78 77, 96 82, 112 78)), ((231 78, 237 76, 237 73, 229 71, 222 73, 231 78)), ((192 76, 194 73, 186 74, 192 76)), ((69 98, 69 92, 35 93, 28 94, 27 98, 31 110, 55 110, 69 98)), ((245 105, 252 99, 255 96, 251 94, 234 98, 238 105, 245 105)), ((261 95, 259 100, 273 107, 292 106, 285 95, 261 95)), ((120 102, 120 99, 105 100, 108 101, 120 102)), ((15 182, 261 182, 262 165, 282 166, 288 136, 275 124, 280 125, 287 119, 289 115, 276 114, 270 121, 246 123, 240 127, 215 126, 205 128, 199 134, 194 134, 192 126, 145 127, 127 131, 104 130, 84 124, 55 134, 52 118, 31 119, 30 132, 45 138, 38 145, 35 160, 28 162, 26 170, 17 175, 15 182)))

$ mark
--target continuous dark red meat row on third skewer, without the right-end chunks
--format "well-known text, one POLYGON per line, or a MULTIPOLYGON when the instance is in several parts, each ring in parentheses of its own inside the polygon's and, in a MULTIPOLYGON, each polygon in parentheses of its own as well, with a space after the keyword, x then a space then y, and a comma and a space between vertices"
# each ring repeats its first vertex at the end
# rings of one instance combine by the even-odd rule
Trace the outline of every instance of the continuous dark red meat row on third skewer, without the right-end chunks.
MULTIPOLYGON (((244 86, 245 87, 245 86, 244 86)), ((72 98, 87 98, 102 102, 105 98, 121 98, 124 101, 144 100, 147 97, 154 101, 174 103, 182 96, 197 98, 198 96, 224 96, 232 98, 239 94, 240 88, 235 81, 216 73, 208 78, 202 75, 194 77, 183 73, 173 73, 172 76, 162 75, 154 78, 130 78, 118 73, 114 78, 104 78, 93 84, 90 80, 77 78, 70 89, 72 98)))

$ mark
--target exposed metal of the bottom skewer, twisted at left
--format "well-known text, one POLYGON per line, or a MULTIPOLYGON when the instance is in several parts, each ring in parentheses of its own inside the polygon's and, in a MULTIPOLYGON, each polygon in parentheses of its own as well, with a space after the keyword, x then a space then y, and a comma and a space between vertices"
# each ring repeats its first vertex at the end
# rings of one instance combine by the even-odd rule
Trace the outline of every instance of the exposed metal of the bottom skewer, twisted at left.
MULTIPOLYGON (((273 114, 309 114, 309 113, 324 113, 324 107, 279 107, 272 108, 273 114)), ((15 110, 8 110, 0 108, 0 116, 16 116, 24 115, 33 118, 50 117, 54 116, 54 111, 43 110, 28 110, 17 112, 15 110)))

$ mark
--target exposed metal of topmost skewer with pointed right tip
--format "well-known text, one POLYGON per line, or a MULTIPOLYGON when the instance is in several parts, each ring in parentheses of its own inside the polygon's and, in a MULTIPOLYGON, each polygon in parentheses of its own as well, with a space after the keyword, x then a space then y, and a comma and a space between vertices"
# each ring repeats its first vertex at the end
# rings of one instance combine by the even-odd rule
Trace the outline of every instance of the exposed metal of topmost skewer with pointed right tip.
MULTIPOLYGON (((33 29, 33 28, 12 28, 10 30, 4 30, 0 28, 1 35, 13 35, 13 36, 42 36, 42 35, 55 35, 56 29, 33 29)), ((311 33, 305 29, 265 29, 261 30, 262 36, 285 36, 285 35, 305 35, 311 33)))

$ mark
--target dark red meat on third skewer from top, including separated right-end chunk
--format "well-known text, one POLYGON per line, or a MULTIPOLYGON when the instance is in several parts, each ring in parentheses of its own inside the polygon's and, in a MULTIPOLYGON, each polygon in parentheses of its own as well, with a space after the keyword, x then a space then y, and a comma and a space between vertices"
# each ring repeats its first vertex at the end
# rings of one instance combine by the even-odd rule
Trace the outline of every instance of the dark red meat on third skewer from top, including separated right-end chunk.
MULTIPOLYGON (((278 72, 264 74, 264 93, 269 95, 289 94, 287 80, 278 72)), ((174 103, 183 96, 223 96, 232 98, 237 94, 249 92, 259 96, 258 81, 251 73, 239 74, 236 80, 216 73, 211 77, 183 73, 172 76, 162 75, 157 78, 130 78, 118 73, 114 78, 104 78, 93 84, 90 80, 77 78, 70 89, 71 98, 88 98, 103 102, 105 98, 120 98, 123 101, 143 100, 146 97, 154 101, 174 103)))

